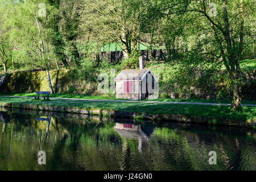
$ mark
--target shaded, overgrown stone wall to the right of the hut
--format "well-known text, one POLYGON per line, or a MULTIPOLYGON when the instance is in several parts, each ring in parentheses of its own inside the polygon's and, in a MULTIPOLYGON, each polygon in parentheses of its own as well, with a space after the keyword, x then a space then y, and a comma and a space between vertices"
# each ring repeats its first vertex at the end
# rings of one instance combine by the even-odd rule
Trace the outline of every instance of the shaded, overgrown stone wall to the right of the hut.
MULTIPOLYGON (((232 98, 228 93, 230 92, 230 88, 228 88, 228 84, 224 79, 224 76, 220 74, 220 79, 211 79, 208 75, 200 74, 199 78, 196 81, 191 81, 191 85, 189 88, 185 88, 187 92, 179 91, 177 92, 177 88, 179 87, 178 83, 173 85, 160 86, 159 94, 160 97, 168 97, 168 98, 201 98, 205 100, 213 100, 216 98, 232 98)), ((256 101, 256 70, 247 70, 242 73, 242 95, 243 99, 246 100, 254 100, 256 101)))

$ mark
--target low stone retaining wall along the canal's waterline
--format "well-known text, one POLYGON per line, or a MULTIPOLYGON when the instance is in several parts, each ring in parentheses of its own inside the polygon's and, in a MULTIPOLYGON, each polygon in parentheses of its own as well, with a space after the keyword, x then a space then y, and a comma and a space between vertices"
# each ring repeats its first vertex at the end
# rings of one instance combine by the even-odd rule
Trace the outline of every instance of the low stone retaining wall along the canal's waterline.
POLYGON ((254 127, 256 122, 253 121, 238 121, 231 119, 216 119, 207 117, 188 117, 185 115, 175 114, 148 114, 148 113, 136 113, 127 111, 114 111, 114 110, 102 110, 102 109, 80 109, 75 107, 57 107, 57 106, 40 106, 30 104, 14 104, 0 102, 1 107, 9 107, 15 109, 27 109, 27 110, 44 110, 44 111, 57 111, 65 113, 76 113, 76 114, 89 114, 99 115, 100 117, 119 117, 119 118, 132 118, 132 119, 147 119, 155 122, 160 121, 172 121, 180 123, 200 123, 207 125, 225 125, 234 127, 254 127))

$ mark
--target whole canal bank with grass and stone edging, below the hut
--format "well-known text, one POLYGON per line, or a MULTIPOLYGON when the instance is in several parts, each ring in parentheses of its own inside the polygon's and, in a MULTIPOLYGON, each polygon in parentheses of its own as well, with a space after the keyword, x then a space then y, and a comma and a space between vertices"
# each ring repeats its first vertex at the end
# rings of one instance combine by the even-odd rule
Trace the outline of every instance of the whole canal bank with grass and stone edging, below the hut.
POLYGON ((200 102, 98 100, 88 98, 53 98, 35 100, 30 96, 0 96, 0 106, 13 109, 57 111, 184 123, 204 123, 237 127, 256 127, 256 105, 242 105, 233 110, 230 104, 200 102))

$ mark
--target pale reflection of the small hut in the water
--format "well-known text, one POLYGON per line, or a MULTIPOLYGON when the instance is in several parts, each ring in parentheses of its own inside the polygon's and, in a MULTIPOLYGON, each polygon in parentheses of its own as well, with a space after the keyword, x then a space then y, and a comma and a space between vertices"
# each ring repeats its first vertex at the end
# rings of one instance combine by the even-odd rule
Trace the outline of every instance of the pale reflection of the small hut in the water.
POLYGON ((114 129, 123 138, 138 139, 138 142, 139 142, 138 150, 140 152, 142 151, 143 141, 148 142, 149 137, 155 132, 155 127, 152 127, 152 126, 142 127, 141 125, 133 125, 129 123, 115 123, 114 129), (150 129, 148 129, 147 127, 149 127, 150 129), (150 133, 148 133, 147 131, 149 131, 150 133))

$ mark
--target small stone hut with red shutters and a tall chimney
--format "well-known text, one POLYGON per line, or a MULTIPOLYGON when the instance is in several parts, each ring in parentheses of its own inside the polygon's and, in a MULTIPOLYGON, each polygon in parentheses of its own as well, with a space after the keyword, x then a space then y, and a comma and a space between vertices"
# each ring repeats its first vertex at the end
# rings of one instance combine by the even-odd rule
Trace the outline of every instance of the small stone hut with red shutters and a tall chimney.
POLYGON ((150 69, 144 69, 139 57, 139 69, 123 70, 115 77, 115 97, 129 100, 144 100, 154 93, 156 78, 150 69))

